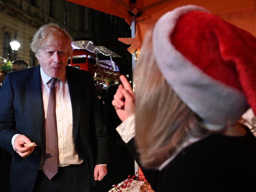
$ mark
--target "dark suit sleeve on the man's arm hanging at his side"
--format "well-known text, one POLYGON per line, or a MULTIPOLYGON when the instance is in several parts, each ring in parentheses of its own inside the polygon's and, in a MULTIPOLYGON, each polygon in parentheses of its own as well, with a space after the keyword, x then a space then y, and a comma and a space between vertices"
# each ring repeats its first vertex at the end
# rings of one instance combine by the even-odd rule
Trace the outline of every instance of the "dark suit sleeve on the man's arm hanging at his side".
POLYGON ((95 158, 95 165, 107 164, 108 156, 107 156, 106 132, 103 130, 97 91, 96 91, 94 80, 92 77, 91 77, 90 91, 91 91, 90 119, 94 121, 93 124, 95 125, 95 127, 91 128, 91 136, 95 138, 92 146, 94 158, 95 158))

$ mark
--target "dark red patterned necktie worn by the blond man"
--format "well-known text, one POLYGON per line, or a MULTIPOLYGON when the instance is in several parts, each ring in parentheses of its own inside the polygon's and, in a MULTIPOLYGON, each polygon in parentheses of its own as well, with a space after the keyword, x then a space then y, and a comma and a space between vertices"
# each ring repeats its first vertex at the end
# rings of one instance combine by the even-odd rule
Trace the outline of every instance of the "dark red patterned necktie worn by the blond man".
POLYGON ((43 172, 51 179, 58 173, 58 131, 56 120, 55 79, 51 79, 45 124, 43 172))

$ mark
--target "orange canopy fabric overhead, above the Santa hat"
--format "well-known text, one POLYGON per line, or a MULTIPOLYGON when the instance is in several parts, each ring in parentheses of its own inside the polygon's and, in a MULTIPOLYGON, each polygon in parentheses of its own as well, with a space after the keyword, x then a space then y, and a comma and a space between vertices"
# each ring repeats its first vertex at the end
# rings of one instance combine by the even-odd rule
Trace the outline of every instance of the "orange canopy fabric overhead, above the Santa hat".
POLYGON ((254 0, 137 0, 136 4, 130 4, 130 0, 67 1, 122 17, 129 24, 131 23, 131 16, 127 7, 130 9, 136 7, 139 11, 142 11, 142 15, 136 18, 136 35, 129 52, 134 52, 140 46, 147 29, 161 15, 175 7, 189 4, 205 7, 227 22, 233 23, 256 37, 256 5, 254 0))

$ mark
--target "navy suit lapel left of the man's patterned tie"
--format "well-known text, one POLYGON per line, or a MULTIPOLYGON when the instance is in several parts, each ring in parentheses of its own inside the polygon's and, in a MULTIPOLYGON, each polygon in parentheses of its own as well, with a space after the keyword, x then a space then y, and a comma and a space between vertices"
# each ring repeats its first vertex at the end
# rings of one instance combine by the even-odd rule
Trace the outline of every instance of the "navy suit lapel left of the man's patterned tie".
POLYGON ((25 82, 29 100, 31 101, 33 115, 37 123, 38 132, 41 137, 41 144, 43 144, 43 98, 41 86, 40 66, 34 67, 35 70, 31 71, 28 75, 29 80, 25 82))

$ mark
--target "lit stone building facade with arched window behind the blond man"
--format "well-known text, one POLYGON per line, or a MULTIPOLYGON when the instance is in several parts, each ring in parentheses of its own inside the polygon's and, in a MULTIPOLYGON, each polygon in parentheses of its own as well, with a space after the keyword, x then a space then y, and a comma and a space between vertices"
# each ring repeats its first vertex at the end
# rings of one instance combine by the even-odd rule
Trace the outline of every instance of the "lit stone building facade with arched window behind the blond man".
POLYGON ((13 60, 9 42, 17 38, 21 43, 18 57, 29 66, 37 65, 29 43, 40 26, 51 22, 64 27, 74 39, 90 39, 89 12, 87 7, 64 0, 0 0, 0 56, 13 60))

